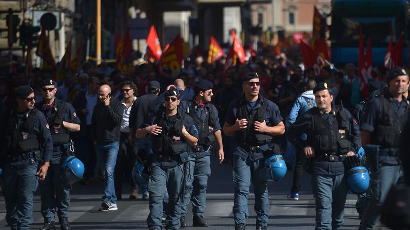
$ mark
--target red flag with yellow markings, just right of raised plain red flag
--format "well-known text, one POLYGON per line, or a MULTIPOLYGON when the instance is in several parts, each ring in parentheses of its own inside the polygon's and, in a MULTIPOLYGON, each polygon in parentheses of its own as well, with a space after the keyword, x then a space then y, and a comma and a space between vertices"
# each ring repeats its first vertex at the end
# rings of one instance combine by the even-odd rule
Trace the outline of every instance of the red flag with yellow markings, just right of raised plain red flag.
POLYGON ((161 56, 162 68, 169 67, 172 71, 181 69, 182 59, 189 52, 188 45, 178 34, 169 48, 161 56))

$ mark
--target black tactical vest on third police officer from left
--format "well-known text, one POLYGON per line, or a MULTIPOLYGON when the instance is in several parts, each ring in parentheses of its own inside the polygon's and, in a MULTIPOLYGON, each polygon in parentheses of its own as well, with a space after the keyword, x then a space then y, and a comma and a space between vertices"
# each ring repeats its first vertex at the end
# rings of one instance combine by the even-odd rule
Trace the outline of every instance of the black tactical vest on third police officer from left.
POLYGON ((182 141, 182 127, 184 125, 185 113, 179 111, 176 119, 170 126, 167 126, 165 115, 160 110, 157 114, 154 124, 162 127, 162 132, 153 136, 152 151, 156 155, 177 155, 187 151, 187 144, 182 141))

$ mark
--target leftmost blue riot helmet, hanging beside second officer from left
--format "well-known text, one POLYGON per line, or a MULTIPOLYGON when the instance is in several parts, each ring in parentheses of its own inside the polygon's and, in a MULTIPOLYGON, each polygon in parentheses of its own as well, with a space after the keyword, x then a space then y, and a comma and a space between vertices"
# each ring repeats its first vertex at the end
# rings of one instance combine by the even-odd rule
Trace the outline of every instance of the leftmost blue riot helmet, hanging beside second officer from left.
POLYGON ((67 157, 61 167, 63 168, 62 177, 66 183, 72 184, 83 178, 84 164, 75 156, 67 157))

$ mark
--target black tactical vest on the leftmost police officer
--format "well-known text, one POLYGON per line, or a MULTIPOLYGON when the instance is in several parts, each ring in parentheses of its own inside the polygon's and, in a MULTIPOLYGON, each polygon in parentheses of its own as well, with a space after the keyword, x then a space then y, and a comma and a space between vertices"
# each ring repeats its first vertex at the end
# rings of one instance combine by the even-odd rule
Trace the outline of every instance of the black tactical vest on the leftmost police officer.
POLYGON ((34 117, 39 113, 36 108, 28 115, 26 121, 18 125, 16 111, 9 114, 6 125, 5 152, 8 156, 19 156, 21 154, 38 150, 39 143, 34 133, 34 117))

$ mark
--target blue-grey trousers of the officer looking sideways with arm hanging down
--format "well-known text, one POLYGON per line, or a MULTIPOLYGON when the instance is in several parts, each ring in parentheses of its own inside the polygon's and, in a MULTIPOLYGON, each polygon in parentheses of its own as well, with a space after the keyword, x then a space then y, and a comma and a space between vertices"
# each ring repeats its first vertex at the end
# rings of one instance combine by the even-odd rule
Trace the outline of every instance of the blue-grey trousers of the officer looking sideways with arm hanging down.
POLYGON ((189 175, 185 186, 185 200, 182 203, 182 216, 187 212, 189 201, 192 201, 192 213, 202 216, 205 211, 206 186, 211 174, 209 156, 202 158, 189 157, 189 175))

